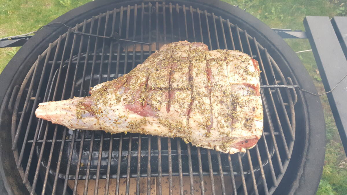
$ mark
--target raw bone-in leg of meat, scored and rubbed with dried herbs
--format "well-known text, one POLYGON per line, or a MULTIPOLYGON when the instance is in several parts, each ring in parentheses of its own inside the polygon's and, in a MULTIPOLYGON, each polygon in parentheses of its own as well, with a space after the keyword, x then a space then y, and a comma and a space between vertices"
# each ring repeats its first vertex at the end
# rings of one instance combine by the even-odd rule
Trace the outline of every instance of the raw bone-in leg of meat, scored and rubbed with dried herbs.
POLYGON ((180 137, 225 153, 252 148, 263 129, 259 65, 237 50, 163 45, 91 96, 44 102, 36 117, 70 129, 180 137))

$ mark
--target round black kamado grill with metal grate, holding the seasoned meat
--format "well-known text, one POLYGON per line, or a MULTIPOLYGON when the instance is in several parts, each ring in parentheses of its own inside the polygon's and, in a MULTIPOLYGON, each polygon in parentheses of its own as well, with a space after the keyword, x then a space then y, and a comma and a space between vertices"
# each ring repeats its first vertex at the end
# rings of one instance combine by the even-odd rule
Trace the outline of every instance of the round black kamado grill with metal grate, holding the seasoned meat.
POLYGON ((258 19, 220 1, 99 0, 53 22, 73 28, 43 27, 1 74, 0 171, 10 194, 315 193, 323 112, 318 97, 294 88, 261 89, 264 133, 253 149, 232 155, 179 138, 71 130, 34 114, 40 102, 87 96, 179 40, 248 53, 259 61, 261 85, 315 92, 293 50, 258 19), (116 33, 151 45, 110 38, 116 33))

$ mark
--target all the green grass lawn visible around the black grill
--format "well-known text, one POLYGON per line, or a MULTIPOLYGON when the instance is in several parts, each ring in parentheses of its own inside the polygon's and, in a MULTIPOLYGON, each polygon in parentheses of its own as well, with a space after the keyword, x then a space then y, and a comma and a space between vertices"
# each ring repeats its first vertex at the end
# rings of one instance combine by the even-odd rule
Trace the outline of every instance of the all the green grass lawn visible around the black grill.
MULTIPOLYGON (((34 31, 89 0, 0 0, 0 37, 34 31)), ((274 28, 304 29, 305 16, 347 16, 346 0, 225 0, 246 8, 274 28)), ((308 40, 286 40, 294 51, 311 49, 308 40)), ((0 72, 19 48, 0 49, 0 72)), ((320 93, 324 92, 312 52, 298 53, 320 93)), ((321 97, 327 129, 325 165, 317 194, 347 194, 347 159, 326 96, 321 97)))

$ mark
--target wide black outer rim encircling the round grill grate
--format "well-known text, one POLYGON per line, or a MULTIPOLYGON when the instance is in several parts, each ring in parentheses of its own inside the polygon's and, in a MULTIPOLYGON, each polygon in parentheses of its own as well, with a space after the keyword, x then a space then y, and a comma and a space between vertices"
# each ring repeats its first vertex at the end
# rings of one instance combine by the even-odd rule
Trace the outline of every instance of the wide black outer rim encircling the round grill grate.
MULTIPOLYGON (((76 9, 73 9, 73 10, 67 12, 66 14, 60 16, 59 18, 53 20, 52 22, 64 22, 64 23, 68 24, 69 26, 74 26, 76 23, 81 22, 81 21, 79 21, 80 19, 78 19, 78 18, 83 18, 84 12, 87 12, 89 10, 91 12, 98 13, 103 9, 101 7, 103 7, 104 5, 109 4, 109 3, 120 3, 120 2, 123 2, 123 1, 100 0, 100 1, 98 1, 98 3, 90 2, 90 3, 87 3, 83 6, 81 6, 81 7, 78 7, 76 9), (98 11, 96 11, 96 10, 98 10, 98 11), (79 13, 79 14, 76 14, 76 13, 79 13), (75 22, 75 21, 78 21, 78 22, 75 22)), ((133 1, 123 2, 123 3, 129 4, 131 2, 133 2, 133 1)), ((187 2, 182 2, 182 1, 177 1, 177 2, 182 3, 181 5, 183 5, 184 3, 187 3, 187 2)), ((197 2, 197 1, 194 1, 194 2, 197 2)), ((192 3, 194 3, 194 2, 192 2, 192 3)), ((265 38, 265 41, 267 43, 271 44, 271 47, 266 46, 266 48, 269 50, 269 53, 272 54, 273 52, 276 52, 277 55, 282 57, 283 58, 282 60, 287 61, 288 64, 298 65, 298 66, 291 67, 291 69, 292 69, 291 74, 293 74, 295 77, 301 78, 301 80, 305 80, 306 78, 308 78, 308 80, 306 79, 305 82, 302 82, 302 83, 298 83, 297 80, 294 80, 294 83, 298 83, 300 86, 302 86, 303 88, 306 88, 310 91, 316 91, 312 80, 310 79, 310 77, 308 77, 307 70, 302 65, 302 62, 297 58, 297 56, 295 55, 293 50, 291 50, 291 48, 284 42, 284 40, 281 37, 279 37, 275 32, 273 32, 268 26, 266 26, 260 20, 257 20, 255 17, 248 14, 247 12, 244 12, 244 11, 242 11, 242 10, 232 6, 232 5, 229 5, 227 3, 224 3, 221 1, 209 2, 208 0, 201 0, 198 2, 203 3, 205 5, 210 5, 213 8, 222 9, 223 11, 226 11, 228 14, 232 13, 235 17, 240 16, 239 18, 240 19, 242 18, 241 20, 243 20, 245 25, 246 24, 249 25, 246 28, 247 28, 247 32, 251 36, 253 36, 253 35, 252 35, 252 31, 248 30, 249 28, 253 28, 254 31, 262 34, 263 38, 265 38), (269 29, 270 29, 270 31, 269 31, 269 29), (281 50, 279 50, 278 48, 281 48, 281 50), (310 82, 310 80, 311 80, 311 82, 310 82)), ((105 11, 106 11, 106 9, 104 9, 104 11, 102 11, 102 12, 105 12, 105 11)), ((213 11, 213 9, 209 10, 209 11, 213 11)), ((242 26, 239 26, 239 27, 245 28, 242 26)), ((35 36, 33 36, 23 46, 24 49, 21 48, 17 52, 15 57, 12 58, 11 61, 8 63, 8 66, 6 66, 6 68, 3 70, 4 74, 0 75, 0 80, 1 80, 1 83, 3 84, 0 86, 0 92, 3 92, 3 93, 0 93, 0 100, 2 101, 2 105, 1 105, 1 109, 0 109, 1 116, 3 115, 4 112, 7 112, 7 110, 5 110, 5 108, 6 108, 6 105, 7 105, 6 103, 8 102, 10 93, 12 91, 11 89, 13 88, 13 86, 16 83, 21 83, 21 82, 18 82, 18 80, 20 80, 20 79, 15 79, 15 78, 18 78, 21 76, 20 72, 26 71, 30 68, 28 66, 25 66, 25 64, 33 64, 34 61, 37 59, 37 56, 33 55, 33 53, 42 53, 44 51, 41 48, 45 49, 45 47, 39 47, 40 43, 53 42, 54 40, 56 40, 58 38, 60 32, 66 32, 66 28, 65 27, 47 27, 47 28, 44 28, 42 31, 36 33, 35 36), (54 31, 56 33, 51 34, 52 31, 54 31), (46 36, 46 35, 49 35, 49 36, 46 36), (33 47, 33 46, 35 46, 35 47, 33 47), (26 47, 30 48, 30 49, 26 50, 26 47), (19 70, 20 70, 20 72, 19 72, 19 70), (12 81, 14 81, 14 82, 12 82, 12 81), (11 86, 9 86, 10 84, 11 84, 11 86), (7 91, 7 92, 5 93, 5 91, 7 91)), ((62 34, 62 33, 60 33, 60 34, 62 34)), ((258 37, 257 37, 257 41, 260 43, 263 42, 258 37)), ((262 44, 262 45, 266 45, 266 44, 262 44)), ((275 59, 275 61, 276 61, 276 59, 275 59)), ((318 97, 310 96, 307 94, 301 94, 301 95, 303 97, 303 102, 306 104, 306 107, 307 107, 307 112, 305 114, 308 117, 307 125, 306 125, 306 134, 307 135, 306 135, 305 141, 308 142, 308 145, 310 145, 310 147, 313 147, 313 148, 316 147, 316 148, 324 149, 325 142, 321 142, 321 143, 314 142, 316 140, 315 138, 318 136, 325 138, 324 117, 323 117, 322 107, 320 104, 320 99, 318 97), (308 115, 310 115, 310 116, 308 116, 308 115), (312 121, 312 120, 310 120, 311 118, 315 119, 314 123, 311 122, 312 121), (320 120, 317 120, 317 119, 320 119, 320 120), (309 129, 315 129, 315 132, 309 131, 309 129), (320 129, 320 130, 316 131, 316 129, 320 129)), ((1 117, 0 118, 0 124, 1 124, 1 128, 6 128, 6 125, 5 125, 6 119, 4 120, 1 117), (3 122, 3 121, 5 121, 5 122, 3 122), (3 127, 3 126, 5 126, 5 127, 3 127)), ((8 128, 8 126, 7 126, 7 128, 8 128)), ((320 137, 320 139, 321 139, 321 137, 320 137)), ((6 144, 3 144, 3 139, 6 139, 6 137, 5 138, 1 137, 1 143, 2 143, 1 149, 5 148, 4 145, 6 145, 6 144)), ((11 145, 11 144, 9 144, 9 145, 11 145)), ((308 152, 307 153, 307 150, 308 150, 308 148, 306 147, 306 149, 304 151, 304 155, 306 155, 305 157, 308 160, 306 160, 306 161, 303 160, 302 163, 300 163, 301 167, 299 168, 300 169, 299 172, 301 174, 298 174, 297 178, 295 179, 295 183, 293 184, 293 186, 291 188, 292 189, 291 192, 295 192, 296 189, 299 189, 299 191, 300 191, 300 189, 302 189, 302 190, 305 190, 306 192, 315 192, 315 190, 316 190, 315 186, 318 186, 319 179, 315 182, 313 180, 309 180, 308 182, 310 182, 310 183, 307 183, 307 178, 302 177, 302 176, 303 176, 303 174, 305 175, 307 173, 310 173, 310 175, 312 175, 312 169, 308 170, 308 169, 304 169, 304 167, 307 167, 307 166, 308 167, 315 167, 315 168, 321 167, 321 169, 322 169, 324 158, 317 159, 316 156, 323 156, 324 157, 324 150, 318 150, 318 152, 320 152, 322 155, 317 155, 317 153, 314 153, 314 152, 311 152, 311 153, 308 152), (315 159, 317 159, 317 160, 315 160, 315 159), (315 166, 312 166, 312 164, 315 164, 315 166), (311 185, 299 186, 299 183, 298 183, 299 181, 304 182, 305 184, 311 184, 311 185)), ((10 154, 6 154, 5 151, 6 150, 1 150, 1 154, 0 154, 0 157, 2 157, 1 158, 1 164, 0 164, 1 173, 4 173, 4 167, 3 166, 6 166, 6 163, 9 163, 9 162, 4 161, 4 158, 3 158, 4 155, 5 156, 7 155, 7 157, 11 158, 11 152, 10 152, 10 154)), ((8 150, 7 150, 7 153, 8 153, 8 150)), ((7 158, 7 159, 9 159, 9 158, 7 158)), ((303 159, 305 159, 305 158, 303 158, 303 159)), ((14 160, 13 156, 12 156, 12 160, 14 160)), ((7 164, 7 166, 8 166, 8 164, 7 164)), ((317 170, 317 169, 315 169, 315 170, 317 170)), ((316 178, 320 178, 321 171, 318 171, 318 172, 313 171, 313 173, 316 176, 318 176, 316 178)), ((12 193, 17 191, 15 189, 13 189, 13 187, 14 187, 13 184, 11 184, 11 185, 8 184, 7 177, 3 174, 2 174, 2 176, 4 179, 5 187, 7 189, 11 189, 12 193), (4 176, 5 176, 5 178, 4 178, 4 176)), ((17 182, 17 183, 16 183, 16 187, 19 189, 22 182, 19 179, 19 182, 17 182), (17 185, 17 183, 18 183, 18 185, 17 185)), ((282 180, 282 183, 284 183, 283 180, 282 180)), ((22 187, 23 187, 23 185, 22 185, 22 187)), ((280 187, 278 187, 277 189, 279 189, 279 188, 280 187)), ((299 191, 297 191, 297 193, 299 191)), ((301 192, 304 192, 304 191, 301 191, 301 192)))

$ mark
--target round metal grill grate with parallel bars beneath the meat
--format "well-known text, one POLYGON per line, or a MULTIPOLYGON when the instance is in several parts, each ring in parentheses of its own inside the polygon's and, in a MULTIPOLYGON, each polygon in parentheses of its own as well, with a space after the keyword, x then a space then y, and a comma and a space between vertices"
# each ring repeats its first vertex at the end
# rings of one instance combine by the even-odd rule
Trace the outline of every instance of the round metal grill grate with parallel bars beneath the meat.
POLYGON ((201 194, 274 192, 293 151, 297 101, 294 89, 261 89, 263 135, 253 149, 233 155, 185 144, 180 139, 72 131, 34 115, 39 102, 86 96, 90 87, 128 73, 160 45, 179 40, 204 42, 210 50, 238 49, 259 61, 262 84, 292 84, 246 30, 206 10, 165 2, 115 8, 76 24, 73 30, 103 36, 118 32, 125 39, 152 45, 114 43, 76 35, 69 29, 39 55, 19 88, 12 116, 12 149, 31 194, 76 193, 79 180, 85 181, 82 191, 86 194, 94 179, 94 194, 100 188, 105 194, 118 193, 121 178, 126 178, 126 194, 131 191, 130 178, 136 178, 136 194, 143 187, 150 194, 153 185, 162 194, 166 177, 170 194, 174 193, 176 177, 180 194, 188 182, 191 194, 196 190, 201 194), (156 184, 152 177, 157 177, 156 184), (210 184, 204 183, 206 177, 210 184), (145 185, 140 178, 146 178, 145 185), (101 179, 105 186, 100 186, 104 184, 101 179), (114 179, 115 191, 110 186, 114 179), (73 185, 69 180, 74 180, 73 185))

